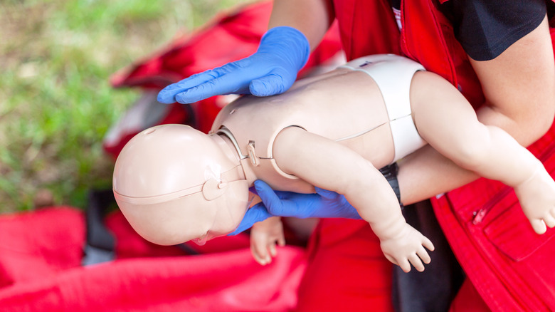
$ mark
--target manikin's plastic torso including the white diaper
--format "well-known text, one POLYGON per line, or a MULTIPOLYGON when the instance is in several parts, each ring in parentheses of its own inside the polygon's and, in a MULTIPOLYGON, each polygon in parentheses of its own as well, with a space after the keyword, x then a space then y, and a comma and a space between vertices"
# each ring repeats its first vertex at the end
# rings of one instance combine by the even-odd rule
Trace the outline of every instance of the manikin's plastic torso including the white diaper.
POLYGON ((221 110, 211 133, 224 135, 233 142, 247 180, 264 180, 274 189, 313 192, 310 184, 283 172, 274 159, 273 142, 280 131, 287 127, 302 128, 349 147, 374 167, 384 167, 425 144, 420 137, 407 135, 411 132, 414 136, 416 129, 396 130, 397 136, 413 139, 401 143, 396 140, 396 145, 404 145, 401 148, 393 145, 391 133, 394 123, 391 120, 399 117, 393 115, 403 115, 412 125, 408 90, 413 74, 421 69, 418 63, 398 56, 354 60, 324 75, 300 80, 287 93, 267 98, 263 104, 253 96, 236 100, 221 110), (386 65, 384 68, 389 68, 386 71, 395 76, 379 72, 371 77, 369 71, 376 71, 376 64, 386 65), (345 87, 334 88, 338 84, 345 87), (388 100, 387 106, 384 98, 388 100), (409 111, 395 111, 396 102, 403 101, 406 103, 401 106, 409 111))

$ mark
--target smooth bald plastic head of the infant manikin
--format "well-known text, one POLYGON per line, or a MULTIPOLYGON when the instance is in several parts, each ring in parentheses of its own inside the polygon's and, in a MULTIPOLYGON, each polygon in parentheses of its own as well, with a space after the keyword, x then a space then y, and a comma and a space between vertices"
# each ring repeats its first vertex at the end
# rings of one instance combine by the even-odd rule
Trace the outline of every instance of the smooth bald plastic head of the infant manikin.
POLYGON ((236 153, 219 135, 186 125, 159 125, 123 148, 114 195, 144 239, 204 244, 236 229, 248 206, 248 182, 236 153))

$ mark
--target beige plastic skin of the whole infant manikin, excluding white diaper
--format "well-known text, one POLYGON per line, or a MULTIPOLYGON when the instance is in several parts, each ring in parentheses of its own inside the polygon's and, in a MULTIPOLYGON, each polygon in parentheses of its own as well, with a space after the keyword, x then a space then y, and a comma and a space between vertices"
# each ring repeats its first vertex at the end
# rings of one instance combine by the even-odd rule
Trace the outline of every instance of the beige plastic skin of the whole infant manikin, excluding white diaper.
MULTIPOLYGON (((514 187, 536 232, 555 225, 555 182, 541 162, 506 132, 479 123, 440 76, 419 71, 409 89, 412 118, 426 142, 461 167, 514 187)), ((203 244, 238 226, 255 180, 292 192, 317 186, 344 195, 369 222, 388 260, 403 271, 411 264, 423 271, 433 244, 406 224, 376 170, 399 157, 384 98, 367 73, 337 68, 281 95, 239 98, 223 108, 208 135, 185 125, 145 130, 118 157, 115 197, 145 239, 203 244)), ((259 244, 273 253, 275 242, 281 244, 280 224, 268 220, 261 229, 271 235, 259 244)))

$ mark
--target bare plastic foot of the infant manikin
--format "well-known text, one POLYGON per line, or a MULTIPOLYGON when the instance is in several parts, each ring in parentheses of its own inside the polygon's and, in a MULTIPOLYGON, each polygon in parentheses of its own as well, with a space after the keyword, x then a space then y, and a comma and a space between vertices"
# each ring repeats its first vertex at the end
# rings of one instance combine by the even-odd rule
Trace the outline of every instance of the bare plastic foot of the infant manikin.
MULTIPOLYGON (((539 165, 543 166, 541 163, 539 165)), ((537 234, 544 234, 546 226, 555 226, 555 182, 543 168, 514 187, 514 192, 537 234)))

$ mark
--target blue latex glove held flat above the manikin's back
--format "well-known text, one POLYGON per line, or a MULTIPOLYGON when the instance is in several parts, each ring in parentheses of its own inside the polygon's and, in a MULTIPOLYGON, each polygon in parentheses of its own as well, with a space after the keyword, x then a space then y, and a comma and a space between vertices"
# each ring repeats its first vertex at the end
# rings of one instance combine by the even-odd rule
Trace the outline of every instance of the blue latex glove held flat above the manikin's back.
POLYGON ((168 85, 158 93, 158 101, 186 104, 221 94, 284 93, 295 82, 309 55, 305 35, 292 27, 275 27, 264 34, 252 56, 168 85))

